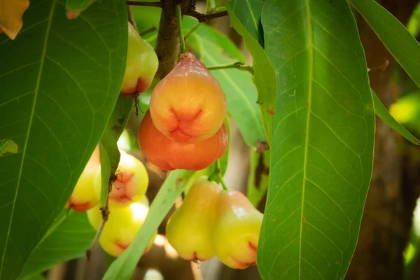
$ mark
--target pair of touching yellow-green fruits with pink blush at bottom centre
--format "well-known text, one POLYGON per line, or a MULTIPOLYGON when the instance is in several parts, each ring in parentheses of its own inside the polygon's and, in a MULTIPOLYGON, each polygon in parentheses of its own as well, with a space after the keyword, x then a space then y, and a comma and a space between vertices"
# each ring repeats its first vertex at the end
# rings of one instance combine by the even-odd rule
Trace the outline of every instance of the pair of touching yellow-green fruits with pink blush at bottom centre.
POLYGON ((166 235, 181 258, 216 257, 231 268, 255 265, 262 214, 238 191, 201 177, 169 218, 166 235))

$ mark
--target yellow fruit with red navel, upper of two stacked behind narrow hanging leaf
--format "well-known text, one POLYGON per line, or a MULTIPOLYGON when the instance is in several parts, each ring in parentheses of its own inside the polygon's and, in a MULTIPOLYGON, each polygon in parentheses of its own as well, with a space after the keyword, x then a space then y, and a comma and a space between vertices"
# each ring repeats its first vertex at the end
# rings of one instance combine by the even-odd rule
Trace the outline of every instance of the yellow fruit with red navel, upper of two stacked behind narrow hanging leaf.
MULTIPOLYGON (((120 151, 120 163, 117 168, 117 180, 109 193, 109 204, 126 205, 138 202, 148 188, 148 174, 143 163, 128 153, 120 151)), ((94 176, 94 191, 99 199, 101 195, 101 167, 94 176)))

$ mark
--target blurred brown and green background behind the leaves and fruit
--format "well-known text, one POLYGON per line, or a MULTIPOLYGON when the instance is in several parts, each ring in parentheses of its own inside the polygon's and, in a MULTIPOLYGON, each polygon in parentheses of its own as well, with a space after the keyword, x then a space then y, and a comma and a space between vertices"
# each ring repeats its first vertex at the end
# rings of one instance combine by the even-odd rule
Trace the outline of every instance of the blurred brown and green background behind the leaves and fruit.
MULTIPOLYGON (((216 5, 223 6, 223 2, 218 0, 216 5)), ((419 38, 419 1, 378 0, 378 2, 406 25, 416 38, 419 38)), ((205 13, 206 2, 197 1, 197 10, 205 13)), ((159 25, 160 8, 133 6, 132 13, 140 33, 159 25)), ((372 89, 391 114, 412 134, 420 138, 419 88, 398 66, 363 19, 357 14, 356 19, 360 39, 365 48, 367 66, 370 68, 372 89)), ((211 20, 205 24, 228 36, 244 53, 248 64, 252 64, 241 37, 230 28, 228 17, 211 20)), ((156 31, 151 31, 142 36, 153 45, 156 34, 156 31)), ((139 101, 142 112, 146 111, 149 98, 150 92, 141 94, 139 101)), ((146 195, 148 200, 152 201, 165 180, 166 173, 146 162, 139 151, 135 137, 140 120, 141 118, 137 118, 133 112, 119 146, 137 156, 148 167, 150 185, 146 195)), ((253 148, 246 145, 233 120, 230 120, 230 127, 230 156, 225 183, 229 188, 247 193, 251 191, 248 189, 248 180, 252 180, 249 170, 255 160, 252 158, 255 151, 251 151, 253 148)), ((267 182, 264 184, 266 186, 267 182)), ((358 246, 346 279, 420 279, 420 202, 417 200, 419 194, 420 148, 409 144, 377 119, 372 183, 367 196, 358 246), (416 205, 419 207, 416 208, 416 205)), ((265 189, 260 190, 260 193, 254 197, 257 197, 254 200, 255 205, 263 211, 265 189)), ((244 270, 229 269, 216 258, 200 263, 182 260, 165 238, 167 218, 160 225, 159 235, 151 251, 139 261, 132 279, 260 279, 256 267, 244 270)), ((89 261, 83 257, 64 262, 44 272, 43 275, 53 280, 102 279, 112 261, 113 258, 97 246, 89 261)))

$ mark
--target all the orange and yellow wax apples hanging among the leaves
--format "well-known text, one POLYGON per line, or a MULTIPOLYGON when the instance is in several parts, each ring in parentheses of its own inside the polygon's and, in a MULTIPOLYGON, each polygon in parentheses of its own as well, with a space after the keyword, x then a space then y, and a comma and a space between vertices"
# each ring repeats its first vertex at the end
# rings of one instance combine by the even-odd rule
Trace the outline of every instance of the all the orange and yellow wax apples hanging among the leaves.
MULTIPOLYGON (((153 48, 129 23, 127 66, 121 93, 145 92, 158 69, 153 48)), ((155 86, 138 132, 144 156, 165 170, 202 170, 222 157, 228 146, 225 94, 216 78, 186 52, 155 86)), ((130 246, 148 213, 148 174, 144 165, 121 151, 118 179, 109 193, 109 218, 99 237, 104 251, 118 256, 130 246)), ((73 190, 66 207, 87 211, 96 230, 101 167, 97 148, 73 190)), ((222 190, 207 176, 191 186, 183 204, 167 223, 167 239, 186 260, 216 256, 225 265, 243 269, 256 262, 262 214, 242 194, 222 190)), ((157 232, 155 232, 155 235, 157 232)), ((154 239, 154 237, 153 237, 154 239)), ((149 242, 148 251, 153 239, 149 242)))

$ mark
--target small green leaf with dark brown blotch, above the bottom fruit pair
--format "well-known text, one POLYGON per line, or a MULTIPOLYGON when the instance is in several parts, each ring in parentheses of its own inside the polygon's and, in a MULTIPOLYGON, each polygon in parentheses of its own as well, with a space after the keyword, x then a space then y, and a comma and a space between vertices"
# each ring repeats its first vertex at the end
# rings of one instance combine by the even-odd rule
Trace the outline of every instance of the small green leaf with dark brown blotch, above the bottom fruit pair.
POLYGON ((269 186, 269 150, 258 153, 255 147, 251 147, 251 160, 248 176, 248 188, 246 196, 257 207, 267 193, 269 186))

